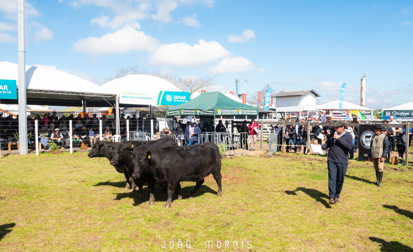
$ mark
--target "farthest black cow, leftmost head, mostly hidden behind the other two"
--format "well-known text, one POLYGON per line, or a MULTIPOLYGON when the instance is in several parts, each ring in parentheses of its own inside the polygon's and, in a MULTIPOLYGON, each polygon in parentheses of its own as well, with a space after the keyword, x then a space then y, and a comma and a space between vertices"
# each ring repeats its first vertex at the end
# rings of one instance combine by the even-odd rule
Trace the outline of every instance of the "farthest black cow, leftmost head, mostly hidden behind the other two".
MULTIPOLYGON (((132 141, 134 143, 134 146, 141 146, 141 145, 151 145, 157 142, 162 142, 165 141, 165 138, 161 138, 161 139, 157 139, 157 140, 148 140, 148 141, 132 141)), ((131 141, 123 141, 123 144, 128 144, 131 141)), ((115 147, 117 145, 119 145, 119 142, 106 142, 106 141, 100 141, 100 140, 96 140, 95 145, 93 145, 92 149, 90 150, 88 156, 90 158, 93 157, 105 157, 107 159, 109 159, 109 161, 112 160, 113 155, 114 155, 114 150, 115 147)), ((128 170, 125 168, 125 166, 114 166, 116 171, 118 173, 123 173, 125 174, 125 178, 126 178, 126 186, 125 189, 130 189, 132 188, 131 191, 135 190, 135 183, 131 182, 131 180, 129 179, 130 174, 128 172, 128 170)))

